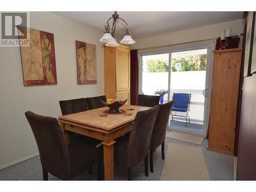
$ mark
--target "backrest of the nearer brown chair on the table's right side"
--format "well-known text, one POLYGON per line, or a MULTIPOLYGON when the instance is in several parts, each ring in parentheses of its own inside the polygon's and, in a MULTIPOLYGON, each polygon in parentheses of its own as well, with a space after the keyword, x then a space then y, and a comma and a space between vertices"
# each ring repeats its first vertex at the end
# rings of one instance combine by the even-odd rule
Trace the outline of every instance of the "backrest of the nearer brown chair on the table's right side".
POLYGON ((148 154, 159 106, 136 114, 128 145, 128 166, 138 164, 148 154))

